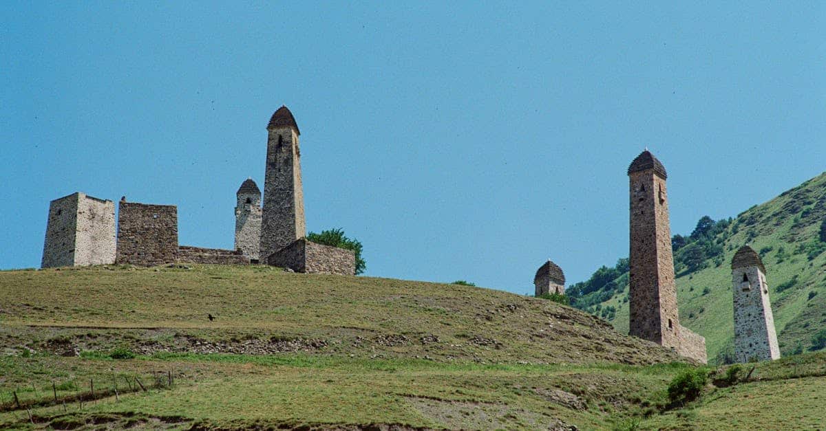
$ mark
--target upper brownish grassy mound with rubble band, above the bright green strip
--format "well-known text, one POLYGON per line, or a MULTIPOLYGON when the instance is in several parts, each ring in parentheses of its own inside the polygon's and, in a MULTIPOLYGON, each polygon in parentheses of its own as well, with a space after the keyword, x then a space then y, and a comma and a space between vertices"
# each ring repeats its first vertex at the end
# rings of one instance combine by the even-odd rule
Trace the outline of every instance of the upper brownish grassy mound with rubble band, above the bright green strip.
POLYGON ((505 291, 271 267, 180 267, 0 272, 0 348, 531 363, 676 359, 582 311, 505 291))

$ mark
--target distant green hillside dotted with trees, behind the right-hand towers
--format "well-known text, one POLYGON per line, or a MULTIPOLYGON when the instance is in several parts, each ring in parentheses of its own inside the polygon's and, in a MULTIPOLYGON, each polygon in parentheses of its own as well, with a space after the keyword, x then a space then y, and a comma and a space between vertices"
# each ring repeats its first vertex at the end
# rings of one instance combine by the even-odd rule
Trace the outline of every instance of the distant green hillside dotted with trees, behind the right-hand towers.
MULTIPOLYGON (((781 353, 813 348, 812 337, 826 328, 824 222, 826 173, 733 220, 712 225, 701 220, 700 234, 675 235, 681 324, 705 336, 710 359, 724 362, 733 349, 730 262, 743 244, 757 250, 766 266, 781 353)), ((580 306, 627 333, 627 260, 602 268, 592 280, 591 291, 579 298, 580 306)))

